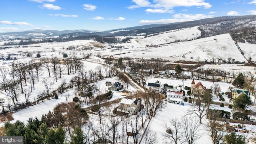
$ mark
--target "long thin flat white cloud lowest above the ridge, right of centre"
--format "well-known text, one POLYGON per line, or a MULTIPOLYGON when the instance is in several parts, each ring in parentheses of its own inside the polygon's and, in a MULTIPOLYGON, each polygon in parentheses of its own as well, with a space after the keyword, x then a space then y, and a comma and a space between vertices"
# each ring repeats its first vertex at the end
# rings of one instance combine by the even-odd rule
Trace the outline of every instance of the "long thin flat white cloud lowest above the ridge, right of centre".
POLYGON ((162 19, 162 20, 140 20, 139 24, 169 24, 174 22, 186 22, 192 20, 185 20, 185 19, 162 19))

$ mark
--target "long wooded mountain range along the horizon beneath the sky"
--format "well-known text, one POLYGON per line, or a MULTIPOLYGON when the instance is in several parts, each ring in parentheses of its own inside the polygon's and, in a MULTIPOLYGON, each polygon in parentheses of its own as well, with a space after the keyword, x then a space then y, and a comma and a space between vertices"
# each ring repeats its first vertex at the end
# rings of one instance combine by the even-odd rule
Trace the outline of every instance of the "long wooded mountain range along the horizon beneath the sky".
MULTIPOLYGON (((247 41, 250 43, 256 43, 256 15, 222 16, 216 18, 194 20, 190 22, 152 24, 130 28, 107 30, 102 32, 89 30, 28 30, 24 32, 7 32, 0 34, 0 40, 10 41, 26 39, 27 41, 30 41, 30 39, 32 38, 41 38, 41 40, 44 41, 52 40, 53 42, 63 42, 76 39, 100 39, 100 42, 107 42, 106 37, 129 37, 139 35, 144 35, 146 37, 149 34, 158 34, 168 30, 176 30, 194 26, 198 26, 199 30, 202 33, 202 38, 218 34, 230 33, 232 38, 239 42, 247 41), (105 39, 102 37, 105 37, 105 39)), ((29 44, 31 44, 31 42, 29 44)))

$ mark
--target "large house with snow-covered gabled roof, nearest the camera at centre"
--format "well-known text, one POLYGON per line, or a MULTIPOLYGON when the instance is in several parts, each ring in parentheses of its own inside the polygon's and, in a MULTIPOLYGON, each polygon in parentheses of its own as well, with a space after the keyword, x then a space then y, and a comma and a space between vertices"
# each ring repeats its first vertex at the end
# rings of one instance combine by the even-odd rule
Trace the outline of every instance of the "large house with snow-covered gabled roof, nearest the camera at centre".
POLYGON ((130 113, 130 114, 136 114, 140 110, 140 108, 141 108, 141 98, 137 98, 136 100, 122 98, 116 110, 130 113))

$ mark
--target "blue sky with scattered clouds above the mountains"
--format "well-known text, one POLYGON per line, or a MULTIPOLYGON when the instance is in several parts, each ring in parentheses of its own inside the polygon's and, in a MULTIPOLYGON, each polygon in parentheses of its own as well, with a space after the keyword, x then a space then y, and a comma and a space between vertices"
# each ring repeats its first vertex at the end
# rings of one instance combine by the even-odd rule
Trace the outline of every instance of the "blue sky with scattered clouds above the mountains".
POLYGON ((0 32, 112 30, 256 14, 256 0, 0 0, 0 32))

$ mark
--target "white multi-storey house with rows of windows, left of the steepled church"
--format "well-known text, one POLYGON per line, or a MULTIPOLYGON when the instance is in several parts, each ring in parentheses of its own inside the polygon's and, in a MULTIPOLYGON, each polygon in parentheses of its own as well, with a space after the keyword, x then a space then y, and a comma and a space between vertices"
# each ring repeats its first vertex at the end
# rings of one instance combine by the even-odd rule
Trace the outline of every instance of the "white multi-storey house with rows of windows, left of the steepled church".
POLYGON ((183 92, 172 92, 172 91, 168 90, 166 92, 166 100, 169 103, 182 104, 183 92))

